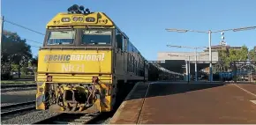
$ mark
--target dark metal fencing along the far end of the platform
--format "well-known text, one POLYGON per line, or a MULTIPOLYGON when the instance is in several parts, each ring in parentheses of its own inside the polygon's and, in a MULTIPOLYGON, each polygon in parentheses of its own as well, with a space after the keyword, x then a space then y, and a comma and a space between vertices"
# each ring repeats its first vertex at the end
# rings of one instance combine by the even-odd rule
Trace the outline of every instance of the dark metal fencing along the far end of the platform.
MULTIPOLYGON (((190 78, 182 72, 174 72, 166 68, 165 62, 147 61, 147 81, 194 81, 195 75, 189 74, 190 78), (189 80, 187 80, 189 79, 189 80)), ((199 71, 198 81, 210 82, 209 73, 199 71), (200 77, 203 76, 203 77, 200 77)), ((242 82, 256 83, 256 62, 236 61, 225 65, 223 62, 217 62, 213 65, 213 82, 242 82)))

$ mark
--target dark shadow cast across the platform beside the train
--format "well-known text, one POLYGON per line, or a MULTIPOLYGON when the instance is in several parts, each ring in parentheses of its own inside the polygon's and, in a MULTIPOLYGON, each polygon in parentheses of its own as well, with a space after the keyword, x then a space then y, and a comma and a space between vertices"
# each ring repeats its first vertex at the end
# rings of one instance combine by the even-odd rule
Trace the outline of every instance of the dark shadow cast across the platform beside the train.
POLYGON ((147 83, 145 85, 137 85, 134 87, 133 92, 130 93, 130 96, 126 100, 132 99, 144 99, 151 98, 156 96, 167 96, 178 93, 185 92, 195 92, 199 90, 211 89, 215 87, 220 87, 226 85, 224 83, 203 83, 203 84, 177 84, 170 82, 154 82, 147 83))

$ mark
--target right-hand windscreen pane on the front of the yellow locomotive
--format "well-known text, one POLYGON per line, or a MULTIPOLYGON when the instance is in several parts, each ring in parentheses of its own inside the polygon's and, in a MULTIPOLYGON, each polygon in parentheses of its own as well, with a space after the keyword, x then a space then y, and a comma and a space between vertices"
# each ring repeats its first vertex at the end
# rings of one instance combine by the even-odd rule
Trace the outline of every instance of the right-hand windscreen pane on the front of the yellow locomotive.
POLYGON ((82 44, 110 45, 111 31, 109 29, 88 29, 82 34, 82 44))

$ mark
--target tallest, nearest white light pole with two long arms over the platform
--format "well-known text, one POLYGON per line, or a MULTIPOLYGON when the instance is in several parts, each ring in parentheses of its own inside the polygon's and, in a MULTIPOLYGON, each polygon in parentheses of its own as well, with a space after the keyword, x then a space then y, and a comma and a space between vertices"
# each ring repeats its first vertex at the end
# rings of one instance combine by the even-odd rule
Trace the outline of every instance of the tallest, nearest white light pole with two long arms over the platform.
POLYGON ((220 32, 226 32, 226 31, 233 31, 233 32, 237 32, 237 31, 245 31, 245 30, 252 30, 255 29, 256 26, 247 26, 247 27, 241 27, 241 28, 234 28, 234 29, 224 29, 224 30, 219 30, 219 31, 196 31, 196 30, 185 30, 185 29, 165 29, 168 32, 177 32, 177 33, 187 33, 187 32, 194 32, 194 33, 208 33, 208 42, 209 42, 209 61, 210 61, 210 65, 209 65, 209 70, 210 70, 210 75, 209 75, 209 81, 212 82, 213 81, 213 73, 212 73, 212 33, 220 33, 220 32))

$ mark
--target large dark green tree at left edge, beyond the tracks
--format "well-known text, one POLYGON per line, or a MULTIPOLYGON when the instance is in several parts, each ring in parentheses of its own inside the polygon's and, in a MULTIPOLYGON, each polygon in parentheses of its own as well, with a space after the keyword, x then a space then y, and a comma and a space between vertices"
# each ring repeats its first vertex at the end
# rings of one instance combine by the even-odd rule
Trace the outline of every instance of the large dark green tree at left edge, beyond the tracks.
POLYGON ((4 31, 1 48, 1 73, 11 72, 11 65, 18 65, 20 77, 21 68, 27 66, 32 58, 31 47, 26 44, 26 40, 21 40, 17 33, 4 31))

